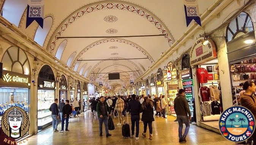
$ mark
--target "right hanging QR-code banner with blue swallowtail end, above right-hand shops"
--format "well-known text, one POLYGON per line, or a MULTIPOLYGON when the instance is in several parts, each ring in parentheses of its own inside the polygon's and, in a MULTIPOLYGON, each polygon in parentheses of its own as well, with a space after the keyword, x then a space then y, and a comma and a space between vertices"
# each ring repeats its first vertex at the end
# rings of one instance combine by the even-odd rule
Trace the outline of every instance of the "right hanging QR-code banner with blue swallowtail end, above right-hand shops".
POLYGON ((183 0, 185 16, 186 16, 186 26, 195 20, 198 25, 201 25, 201 19, 199 17, 198 0, 183 0))

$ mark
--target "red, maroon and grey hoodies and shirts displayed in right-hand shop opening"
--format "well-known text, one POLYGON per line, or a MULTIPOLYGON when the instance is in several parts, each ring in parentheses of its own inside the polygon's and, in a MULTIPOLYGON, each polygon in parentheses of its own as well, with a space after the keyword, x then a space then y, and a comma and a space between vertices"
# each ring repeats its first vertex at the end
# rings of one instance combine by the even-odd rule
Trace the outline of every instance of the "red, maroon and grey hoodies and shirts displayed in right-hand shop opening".
POLYGON ((221 114, 218 65, 201 65, 196 70, 196 77, 201 86, 198 96, 201 100, 203 120, 218 120, 221 114))

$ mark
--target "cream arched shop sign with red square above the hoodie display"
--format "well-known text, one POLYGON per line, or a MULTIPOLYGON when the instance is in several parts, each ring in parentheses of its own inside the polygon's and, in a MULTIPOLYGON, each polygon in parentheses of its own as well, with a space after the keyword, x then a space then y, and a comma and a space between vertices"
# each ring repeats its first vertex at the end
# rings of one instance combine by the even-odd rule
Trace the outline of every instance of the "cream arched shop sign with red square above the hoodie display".
POLYGON ((204 37, 200 37, 196 42, 193 44, 190 52, 190 65, 199 65, 201 63, 207 62, 215 57, 216 54, 216 47, 214 42, 209 39, 209 43, 204 46, 202 42, 204 41, 204 37))

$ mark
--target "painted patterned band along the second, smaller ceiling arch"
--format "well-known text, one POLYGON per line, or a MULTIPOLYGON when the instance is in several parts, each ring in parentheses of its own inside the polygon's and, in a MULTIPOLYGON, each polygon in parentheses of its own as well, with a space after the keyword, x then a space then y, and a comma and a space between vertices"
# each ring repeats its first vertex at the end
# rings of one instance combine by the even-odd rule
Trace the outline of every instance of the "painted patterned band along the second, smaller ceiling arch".
POLYGON ((102 39, 102 40, 100 40, 100 41, 94 42, 94 43, 92 43, 91 45, 85 47, 85 48, 83 49, 83 51, 81 51, 81 52, 79 53, 79 55, 77 55, 77 57, 76 57, 76 59, 75 59, 76 61, 74 62, 73 67, 76 65, 77 60, 79 60, 79 59, 82 57, 82 55, 83 55, 86 51, 88 51, 89 49, 93 48, 94 46, 101 45, 101 44, 108 43, 108 42, 119 42, 119 43, 125 43, 125 44, 127 44, 127 45, 133 46, 133 47, 136 48, 137 50, 141 51, 142 54, 144 54, 144 56, 146 56, 146 57, 150 60, 151 63, 154 63, 154 60, 153 60, 153 58, 150 56, 150 54, 149 54, 147 51, 145 51, 145 49, 143 49, 141 46, 137 45, 136 43, 133 43, 133 42, 128 41, 128 40, 125 40, 125 39, 120 39, 120 38, 114 38, 114 39, 112 39, 112 38, 107 38, 107 39, 102 39))

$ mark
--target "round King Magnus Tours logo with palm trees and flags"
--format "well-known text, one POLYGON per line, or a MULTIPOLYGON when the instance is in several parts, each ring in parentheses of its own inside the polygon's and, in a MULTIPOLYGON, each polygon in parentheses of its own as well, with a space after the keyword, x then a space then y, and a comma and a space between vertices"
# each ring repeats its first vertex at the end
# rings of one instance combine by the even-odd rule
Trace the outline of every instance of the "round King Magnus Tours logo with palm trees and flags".
POLYGON ((255 119, 247 108, 232 106, 221 114, 219 128, 226 139, 242 142, 252 136, 255 130, 255 119))

